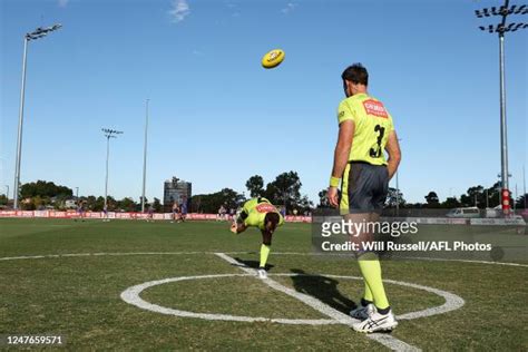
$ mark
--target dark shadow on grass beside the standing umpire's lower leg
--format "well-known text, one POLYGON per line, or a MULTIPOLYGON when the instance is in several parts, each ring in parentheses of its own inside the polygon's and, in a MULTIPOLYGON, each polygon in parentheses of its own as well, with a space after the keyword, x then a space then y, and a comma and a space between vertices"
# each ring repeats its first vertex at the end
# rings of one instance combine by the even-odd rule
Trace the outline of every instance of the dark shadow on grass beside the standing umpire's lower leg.
POLYGON ((348 299, 339 291, 338 280, 322 275, 312 275, 300 268, 292 268, 292 273, 299 274, 291 276, 293 286, 297 292, 311 295, 345 314, 349 314, 351 310, 356 307, 354 301, 348 299))

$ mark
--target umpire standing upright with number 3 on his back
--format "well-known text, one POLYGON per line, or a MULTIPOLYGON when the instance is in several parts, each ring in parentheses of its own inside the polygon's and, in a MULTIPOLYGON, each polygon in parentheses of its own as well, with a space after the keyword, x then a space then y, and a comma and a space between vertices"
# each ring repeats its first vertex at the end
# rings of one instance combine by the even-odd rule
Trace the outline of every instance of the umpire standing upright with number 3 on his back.
MULTIPOLYGON (((327 197, 345 221, 375 223, 385 203, 389 180, 400 164, 398 137, 383 102, 366 91, 366 69, 354 63, 341 78, 346 98, 338 109, 339 137, 327 197)), ((353 241, 358 243, 373 238, 368 232, 355 235, 353 241)), ((353 329, 365 333, 390 331, 398 322, 385 295, 380 261, 374 252, 360 251, 356 255, 364 278, 364 295, 361 305, 350 312, 361 320, 353 329)))

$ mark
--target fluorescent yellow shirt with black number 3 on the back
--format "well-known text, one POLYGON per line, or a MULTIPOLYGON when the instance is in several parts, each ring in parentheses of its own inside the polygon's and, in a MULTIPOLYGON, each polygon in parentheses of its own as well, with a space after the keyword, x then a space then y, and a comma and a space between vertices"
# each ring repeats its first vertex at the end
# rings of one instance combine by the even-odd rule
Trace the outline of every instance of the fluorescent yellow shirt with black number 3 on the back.
POLYGON ((353 95, 339 105, 338 120, 340 125, 345 120, 354 121, 350 162, 387 165, 384 149, 394 125, 383 102, 365 94, 353 95))

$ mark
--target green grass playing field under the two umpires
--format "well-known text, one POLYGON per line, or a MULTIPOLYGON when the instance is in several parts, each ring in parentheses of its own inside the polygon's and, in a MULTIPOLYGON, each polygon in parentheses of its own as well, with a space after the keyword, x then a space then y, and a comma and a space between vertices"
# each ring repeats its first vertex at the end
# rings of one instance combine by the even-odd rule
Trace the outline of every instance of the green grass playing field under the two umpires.
MULTIPOLYGON (((120 299, 144 282, 244 274, 214 253, 252 265, 260 234, 236 236, 227 227, 215 222, 0 219, 0 335, 61 334, 69 350, 388 350, 344 324, 211 321, 164 315, 120 299), (97 255, 47 256, 65 254, 97 255), (6 260, 40 255, 46 256, 6 260)), ((270 277, 346 313, 362 283, 332 275, 359 276, 356 263, 311 251, 310 225, 286 224, 275 234, 270 274, 317 275, 270 277)), ((390 336, 424 351, 528 350, 528 267, 428 261, 382 266, 385 280, 443 290, 466 301, 449 313, 402 320, 390 336)), ((398 315, 444 303, 409 286, 388 283, 385 289, 398 315)), ((167 283, 140 297, 195 313, 329 319, 247 275, 167 283)))

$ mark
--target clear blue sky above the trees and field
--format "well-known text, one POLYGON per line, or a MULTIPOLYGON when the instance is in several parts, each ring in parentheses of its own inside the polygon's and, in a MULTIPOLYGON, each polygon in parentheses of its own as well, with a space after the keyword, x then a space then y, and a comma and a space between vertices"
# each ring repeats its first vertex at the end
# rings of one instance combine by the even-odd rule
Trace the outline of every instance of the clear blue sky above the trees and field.
MULTIPOLYGON (((271 182, 293 169, 316 201, 332 167, 340 75, 358 61, 402 138, 408 202, 497 180, 498 39, 478 29, 497 19, 473 10, 500 1, 0 3, 0 185, 11 196, 22 38, 55 22, 63 28, 29 45, 22 183, 101 195, 100 128, 109 127, 125 131, 111 140, 109 194, 138 199, 149 98, 147 198, 162 198, 173 175, 198 194, 243 192, 252 175, 271 182), (286 58, 265 70, 260 60, 274 48, 286 58)), ((506 40, 510 188, 517 183, 519 193, 528 164, 527 33, 506 40)))

